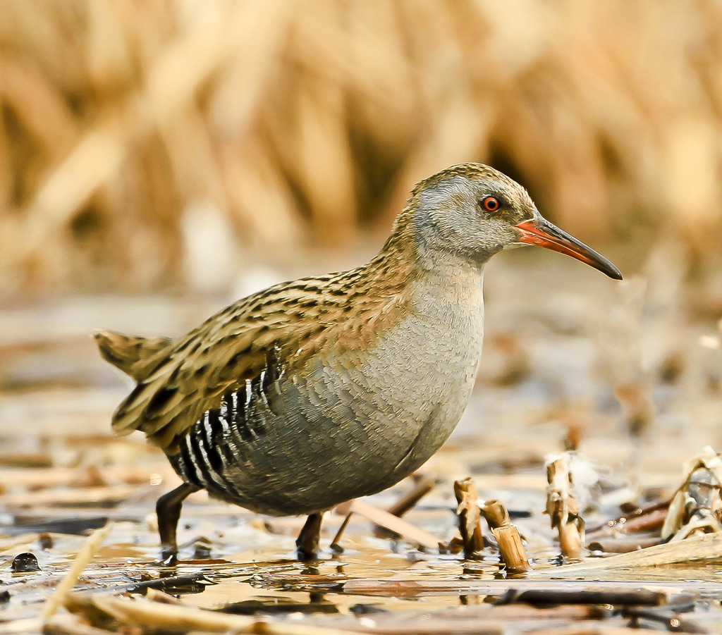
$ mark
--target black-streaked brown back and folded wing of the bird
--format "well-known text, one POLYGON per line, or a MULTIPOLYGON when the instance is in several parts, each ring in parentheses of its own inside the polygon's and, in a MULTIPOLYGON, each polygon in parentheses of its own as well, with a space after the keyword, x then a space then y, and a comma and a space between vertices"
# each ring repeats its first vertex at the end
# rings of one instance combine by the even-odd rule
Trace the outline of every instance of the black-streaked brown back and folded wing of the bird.
POLYGON ((409 280, 402 267, 389 275, 379 255, 351 271, 284 282, 239 300, 144 362, 144 376, 113 414, 113 430, 141 430, 175 454, 188 429, 240 382, 266 368, 280 375, 284 366, 300 367, 332 334, 341 348, 367 344, 403 312, 409 280))

